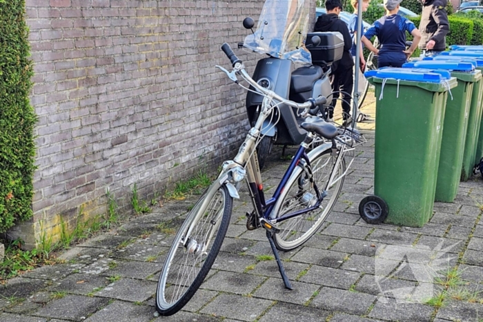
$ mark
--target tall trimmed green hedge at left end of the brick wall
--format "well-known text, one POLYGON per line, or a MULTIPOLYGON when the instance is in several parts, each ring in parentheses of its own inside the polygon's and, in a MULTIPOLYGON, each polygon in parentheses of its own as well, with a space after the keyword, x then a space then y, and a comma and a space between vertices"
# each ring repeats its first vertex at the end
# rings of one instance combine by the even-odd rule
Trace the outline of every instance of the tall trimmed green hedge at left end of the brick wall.
POLYGON ((0 232, 32 217, 32 83, 25 0, 0 0, 0 232))

